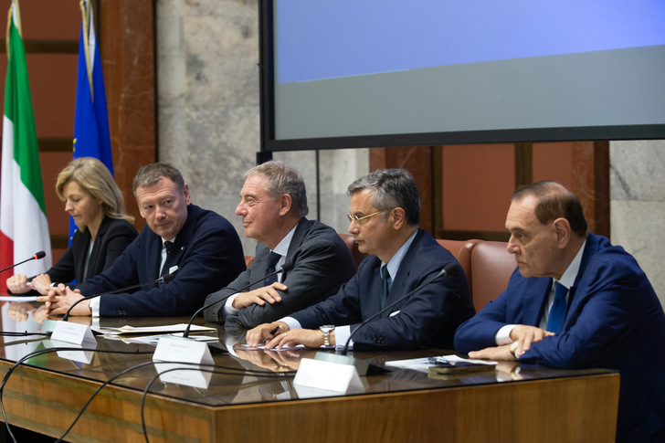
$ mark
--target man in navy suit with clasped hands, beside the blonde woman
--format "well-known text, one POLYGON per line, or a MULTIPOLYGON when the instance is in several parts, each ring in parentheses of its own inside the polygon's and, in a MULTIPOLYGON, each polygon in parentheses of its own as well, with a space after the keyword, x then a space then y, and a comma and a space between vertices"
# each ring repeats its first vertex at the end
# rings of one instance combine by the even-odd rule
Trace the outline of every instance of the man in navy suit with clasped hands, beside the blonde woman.
POLYGON ((110 269, 76 291, 58 285, 38 301, 49 314, 63 314, 84 295, 117 290, 174 274, 168 284, 147 285, 132 293, 81 301, 71 315, 191 315, 206 294, 245 270, 240 238, 222 216, 191 204, 182 174, 167 163, 143 166, 134 177, 134 195, 147 227, 110 269))

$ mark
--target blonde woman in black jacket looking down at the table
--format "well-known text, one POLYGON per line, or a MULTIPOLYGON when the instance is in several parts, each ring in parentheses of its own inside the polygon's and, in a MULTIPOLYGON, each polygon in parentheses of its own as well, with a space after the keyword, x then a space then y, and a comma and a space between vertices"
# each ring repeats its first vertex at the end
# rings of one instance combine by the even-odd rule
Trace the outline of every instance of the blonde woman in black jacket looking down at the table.
POLYGON ((118 185, 99 160, 81 157, 69 163, 58 174, 56 192, 78 227, 71 247, 45 274, 32 279, 25 275, 7 279, 7 289, 15 294, 37 290, 46 295, 52 283, 74 279, 82 283, 110 268, 138 235, 132 226, 133 217, 125 214, 118 185))

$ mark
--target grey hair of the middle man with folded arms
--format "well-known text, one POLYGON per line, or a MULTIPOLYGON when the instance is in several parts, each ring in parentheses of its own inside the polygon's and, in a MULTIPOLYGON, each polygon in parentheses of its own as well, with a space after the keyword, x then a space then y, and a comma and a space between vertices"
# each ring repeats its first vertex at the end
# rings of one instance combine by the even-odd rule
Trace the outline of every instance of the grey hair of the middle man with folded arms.
POLYGON ((298 216, 307 216, 310 209, 307 207, 307 189, 301 173, 289 163, 270 160, 251 168, 243 178, 247 180, 249 175, 261 174, 265 178, 266 192, 277 200, 281 195, 288 194, 291 197, 292 210, 298 216))

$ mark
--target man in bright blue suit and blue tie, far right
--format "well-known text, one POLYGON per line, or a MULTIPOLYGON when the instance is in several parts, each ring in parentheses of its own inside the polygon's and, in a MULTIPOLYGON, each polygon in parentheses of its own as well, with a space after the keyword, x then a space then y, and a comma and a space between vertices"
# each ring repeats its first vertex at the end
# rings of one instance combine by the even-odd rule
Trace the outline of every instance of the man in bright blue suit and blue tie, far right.
POLYGON ((617 441, 663 441, 665 315, 635 258, 589 233, 575 195, 554 182, 515 191, 506 228, 518 269, 507 290, 459 327, 455 349, 618 369, 617 441))

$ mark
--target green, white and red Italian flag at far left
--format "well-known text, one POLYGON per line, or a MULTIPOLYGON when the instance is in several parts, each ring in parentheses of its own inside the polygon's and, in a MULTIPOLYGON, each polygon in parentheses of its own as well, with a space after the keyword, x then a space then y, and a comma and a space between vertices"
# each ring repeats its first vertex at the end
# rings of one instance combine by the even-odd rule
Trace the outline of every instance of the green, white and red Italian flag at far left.
POLYGON ((8 62, 0 183, 0 269, 30 258, 40 250, 44 250, 47 257, 2 272, 0 290, 3 292, 6 292, 7 278, 14 273, 31 277, 46 271, 51 265, 37 132, 16 0, 9 7, 7 21, 8 62))

